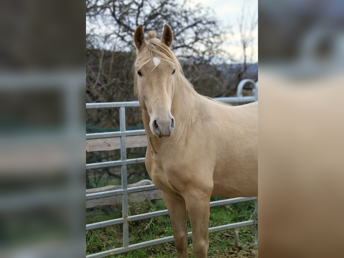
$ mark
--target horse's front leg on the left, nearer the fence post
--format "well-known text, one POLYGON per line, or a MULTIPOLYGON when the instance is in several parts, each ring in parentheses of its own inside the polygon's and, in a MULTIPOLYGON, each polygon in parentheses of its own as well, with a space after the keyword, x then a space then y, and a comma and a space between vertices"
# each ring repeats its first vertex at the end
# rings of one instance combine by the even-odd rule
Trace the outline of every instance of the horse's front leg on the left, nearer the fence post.
POLYGON ((178 258, 187 257, 187 218, 186 205, 182 196, 172 196, 161 191, 162 198, 169 211, 174 244, 177 249, 178 258))

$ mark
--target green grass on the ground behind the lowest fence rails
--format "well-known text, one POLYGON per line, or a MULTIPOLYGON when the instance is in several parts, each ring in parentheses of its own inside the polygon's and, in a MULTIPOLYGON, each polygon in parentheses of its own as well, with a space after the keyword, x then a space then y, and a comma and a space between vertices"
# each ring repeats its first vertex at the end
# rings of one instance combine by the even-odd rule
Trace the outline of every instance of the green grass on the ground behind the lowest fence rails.
MULTIPOLYGON (((225 198, 212 196, 211 201, 225 198)), ((155 202, 142 201, 129 204, 129 215, 153 212, 166 209, 163 200, 155 202)), ((246 221, 254 212, 254 201, 212 207, 209 227, 246 221)), ((86 223, 94 223, 121 217, 121 207, 98 208, 86 212, 86 223)), ((188 230, 191 231, 188 217, 188 230)), ((172 226, 169 216, 145 219, 129 223, 129 245, 161 237, 171 236, 172 226)), ((243 248, 254 243, 254 227, 239 228, 239 242, 243 248)), ((224 257, 228 249, 234 245, 233 230, 209 234, 208 257, 224 257)), ((114 225, 86 232, 86 253, 106 251, 122 246, 122 226, 114 225)), ((192 238, 188 239, 189 257, 193 257, 192 238)), ((139 249, 111 257, 176 257, 174 242, 139 249)))

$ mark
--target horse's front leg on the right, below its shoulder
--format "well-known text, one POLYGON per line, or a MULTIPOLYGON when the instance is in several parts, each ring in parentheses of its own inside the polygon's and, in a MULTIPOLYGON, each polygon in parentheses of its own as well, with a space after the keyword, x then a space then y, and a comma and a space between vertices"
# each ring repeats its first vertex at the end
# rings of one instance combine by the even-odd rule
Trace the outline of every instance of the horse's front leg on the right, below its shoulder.
POLYGON ((190 190, 184 195, 184 198, 190 217, 192 249, 195 258, 205 258, 209 249, 209 203, 212 187, 202 187, 202 189, 197 189, 197 187, 199 185, 190 187, 190 190))

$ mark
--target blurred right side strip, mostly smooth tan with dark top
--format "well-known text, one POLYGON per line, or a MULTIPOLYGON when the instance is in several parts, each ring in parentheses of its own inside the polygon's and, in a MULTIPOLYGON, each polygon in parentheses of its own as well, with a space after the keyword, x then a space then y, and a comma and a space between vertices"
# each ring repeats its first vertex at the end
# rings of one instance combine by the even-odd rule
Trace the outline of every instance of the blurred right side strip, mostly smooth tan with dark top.
POLYGON ((344 3, 259 4, 259 254, 342 257, 344 3))

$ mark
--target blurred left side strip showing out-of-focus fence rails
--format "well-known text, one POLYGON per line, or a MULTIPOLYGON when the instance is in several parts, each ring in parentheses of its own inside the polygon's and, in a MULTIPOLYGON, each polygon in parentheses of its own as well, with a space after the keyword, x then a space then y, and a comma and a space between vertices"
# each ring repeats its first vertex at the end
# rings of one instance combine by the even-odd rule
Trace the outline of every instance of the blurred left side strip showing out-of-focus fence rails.
POLYGON ((1 3, 0 257, 85 254, 83 6, 1 3))

